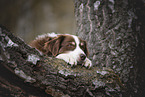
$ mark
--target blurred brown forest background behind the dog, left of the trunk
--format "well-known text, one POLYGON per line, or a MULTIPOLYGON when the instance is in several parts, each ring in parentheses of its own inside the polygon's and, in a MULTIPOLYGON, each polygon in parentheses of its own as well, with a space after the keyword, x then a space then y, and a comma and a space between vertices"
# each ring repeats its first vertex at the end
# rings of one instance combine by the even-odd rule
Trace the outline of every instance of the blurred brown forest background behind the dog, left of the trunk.
POLYGON ((29 43, 37 35, 75 34, 73 0, 0 0, 0 24, 29 43))

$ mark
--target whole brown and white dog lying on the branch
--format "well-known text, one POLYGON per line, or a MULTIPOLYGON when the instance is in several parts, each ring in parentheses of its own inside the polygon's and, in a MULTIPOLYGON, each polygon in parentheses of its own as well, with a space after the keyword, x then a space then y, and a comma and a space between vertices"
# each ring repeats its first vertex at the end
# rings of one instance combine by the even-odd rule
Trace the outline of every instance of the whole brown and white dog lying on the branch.
POLYGON ((92 62, 88 59, 87 43, 78 36, 48 33, 39 35, 30 45, 45 55, 64 60, 71 66, 79 64, 92 67, 92 62))

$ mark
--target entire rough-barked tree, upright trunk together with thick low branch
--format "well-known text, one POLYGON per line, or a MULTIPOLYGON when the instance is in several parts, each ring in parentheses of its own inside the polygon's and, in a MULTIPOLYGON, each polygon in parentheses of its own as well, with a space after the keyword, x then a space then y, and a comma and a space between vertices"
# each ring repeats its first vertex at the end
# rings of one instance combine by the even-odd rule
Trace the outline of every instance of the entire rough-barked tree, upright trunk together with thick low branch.
POLYGON ((143 97, 144 0, 74 0, 93 67, 42 56, 0 26, 0 96, 143 97), (49 95, 50 94, 50 95, 49 95))

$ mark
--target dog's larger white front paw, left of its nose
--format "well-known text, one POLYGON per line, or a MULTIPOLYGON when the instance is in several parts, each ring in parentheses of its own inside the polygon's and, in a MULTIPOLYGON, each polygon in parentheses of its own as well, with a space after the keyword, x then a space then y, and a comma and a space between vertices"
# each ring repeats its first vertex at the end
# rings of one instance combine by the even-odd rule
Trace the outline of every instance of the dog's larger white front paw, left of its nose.
POLYGON ((56 56, 58 59, 62 59, 65 62, 69 63, 71 66, 77 65, 77 60, 73 57, 70 58, 70 56, 67 56, 66 54, 60 54, 56 56))

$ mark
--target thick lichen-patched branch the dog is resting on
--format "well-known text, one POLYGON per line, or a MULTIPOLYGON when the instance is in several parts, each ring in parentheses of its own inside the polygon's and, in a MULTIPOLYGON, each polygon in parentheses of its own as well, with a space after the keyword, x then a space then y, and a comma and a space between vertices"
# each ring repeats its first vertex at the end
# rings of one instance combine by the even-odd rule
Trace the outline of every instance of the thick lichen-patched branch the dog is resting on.
POLYGON ((72 68, 62 60, 40 55, 3 27, 0 27, 0 67, 3 96, 105 96, 118 95, 125 89, 111 69, 72 68))

